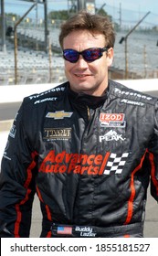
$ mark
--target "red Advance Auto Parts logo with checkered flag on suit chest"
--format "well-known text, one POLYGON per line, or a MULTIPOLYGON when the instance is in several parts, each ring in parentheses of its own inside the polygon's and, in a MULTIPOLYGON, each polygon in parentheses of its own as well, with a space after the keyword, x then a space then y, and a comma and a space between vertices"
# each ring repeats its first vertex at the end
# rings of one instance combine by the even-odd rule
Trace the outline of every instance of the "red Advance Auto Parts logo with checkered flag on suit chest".
POLYGON ((122 155, 107 152, 105 155, 68 154, 66 151, 56 155, 51 150, 39 167, 43 173, 73 173, 79 175, 110 175, 111 172, 121 174, 128 153, 122 155), (108 170, 108 172, 107 172, 108 170))

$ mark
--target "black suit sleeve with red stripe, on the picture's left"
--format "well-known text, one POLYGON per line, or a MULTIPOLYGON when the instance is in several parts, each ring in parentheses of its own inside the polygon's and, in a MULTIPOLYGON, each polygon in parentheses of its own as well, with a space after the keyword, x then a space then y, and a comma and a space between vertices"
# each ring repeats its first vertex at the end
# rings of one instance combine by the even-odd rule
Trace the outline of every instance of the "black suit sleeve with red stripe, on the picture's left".
POLYGON ((0 237, 29 237, 36 156, 25 130, 24 102, 8 134, 0 173, 0 237))

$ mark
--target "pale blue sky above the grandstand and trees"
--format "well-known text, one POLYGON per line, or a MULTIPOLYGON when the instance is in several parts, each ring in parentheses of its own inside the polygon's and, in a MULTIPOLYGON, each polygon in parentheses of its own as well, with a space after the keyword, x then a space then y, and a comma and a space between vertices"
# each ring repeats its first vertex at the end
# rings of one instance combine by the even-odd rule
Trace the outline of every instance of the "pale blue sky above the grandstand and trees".
MULTIPOLYGON (((106 3, 104 6, 105 11, 113 16, 116 21, 120 18, 120 6, 122 21, 131 20, 133 23, 150 11, 151 13, 145 18, 145 22, 151 23, 153 26, 158 26, 158 0, 95 0, 95 3, 97 8, 100 8, 101 5, 106 3)), ((32 5, 32 3, 22 0, 5 0, 5 12, 22 15, 26 13, 30 5, 32 5)), ((67 8, 67 0, 47 0, 48 12, 51 10, 67 8)), ((38 5, 38 16, 42 16, 43 13, 43 5, 40 4, 38 5)), ((36 16, 35 9, 31 11, 29 16, 36 16)))

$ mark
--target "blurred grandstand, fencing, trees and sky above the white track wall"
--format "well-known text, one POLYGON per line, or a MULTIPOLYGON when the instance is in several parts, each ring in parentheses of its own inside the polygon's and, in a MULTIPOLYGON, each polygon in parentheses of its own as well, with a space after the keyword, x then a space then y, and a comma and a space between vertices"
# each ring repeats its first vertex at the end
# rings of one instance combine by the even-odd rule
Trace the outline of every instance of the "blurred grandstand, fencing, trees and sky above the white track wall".
POLYGON ((62 82, 59 27, 86 9, 109 16, 116 32, 110 79, 158 78, 158 2, 0 0, 0 85, 62 82))

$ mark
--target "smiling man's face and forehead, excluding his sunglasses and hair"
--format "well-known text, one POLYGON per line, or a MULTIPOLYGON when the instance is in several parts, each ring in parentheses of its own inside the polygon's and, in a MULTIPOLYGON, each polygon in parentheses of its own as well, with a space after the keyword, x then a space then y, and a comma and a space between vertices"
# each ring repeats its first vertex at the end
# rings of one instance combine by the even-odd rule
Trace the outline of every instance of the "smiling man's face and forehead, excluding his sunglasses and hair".
MULTIPOLYGON (((102 34, 90 34, 88 30, 71 32, 63 41, 63 49, 71 48, 83 51, 87 48, 106 47, 102 34)), ((103 52, 100 59, 88 62, 81 55, 76 63, 65 60, 65 73, 72 91, 82 91, 100 96, 108 86, 108 68, 113 59, 113 49, 103 52)))

